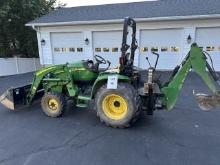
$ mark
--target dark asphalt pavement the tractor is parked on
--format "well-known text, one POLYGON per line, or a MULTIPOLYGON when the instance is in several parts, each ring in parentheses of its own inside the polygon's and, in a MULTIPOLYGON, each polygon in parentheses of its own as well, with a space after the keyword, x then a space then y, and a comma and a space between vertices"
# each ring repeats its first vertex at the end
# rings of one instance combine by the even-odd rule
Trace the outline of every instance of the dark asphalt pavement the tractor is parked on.
MULTIPOLYGON (((1 77, 0 94, 31 79, 1 77)), ((128 129, 101 124, 92 107, 69 105, 53 119, 39 103, 16 112, 0 105, 0 165, 219 165, 220 109, 199 110, 193 89, 207 91, 190 74, 173 111, 142 113, 128 129)))

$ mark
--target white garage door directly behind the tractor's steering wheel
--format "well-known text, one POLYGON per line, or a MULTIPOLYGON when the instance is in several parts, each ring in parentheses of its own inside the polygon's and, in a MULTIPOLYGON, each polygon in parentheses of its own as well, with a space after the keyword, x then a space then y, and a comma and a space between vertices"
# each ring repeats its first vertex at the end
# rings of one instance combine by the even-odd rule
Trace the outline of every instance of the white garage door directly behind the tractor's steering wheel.
POLYGON ((93 53, 109 60, 111 68, 117 67, 121 55, 121 41, 121 31, 93 32, 93 53))

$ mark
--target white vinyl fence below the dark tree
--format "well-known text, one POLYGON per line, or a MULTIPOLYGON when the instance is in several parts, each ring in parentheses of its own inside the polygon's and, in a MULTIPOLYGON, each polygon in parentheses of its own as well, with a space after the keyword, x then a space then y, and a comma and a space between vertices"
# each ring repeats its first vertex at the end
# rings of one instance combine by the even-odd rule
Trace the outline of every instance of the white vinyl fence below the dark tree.
POLYGON ((0 58, 0 76, 33 72, 40 68, 39 58, 0 58))

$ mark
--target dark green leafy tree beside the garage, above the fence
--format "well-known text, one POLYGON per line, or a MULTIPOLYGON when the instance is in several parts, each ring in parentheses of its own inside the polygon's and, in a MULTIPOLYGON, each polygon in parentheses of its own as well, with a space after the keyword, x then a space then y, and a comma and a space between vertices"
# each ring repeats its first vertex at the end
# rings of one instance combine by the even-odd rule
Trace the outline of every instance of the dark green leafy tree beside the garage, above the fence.
POLYGON ((0 57, 37 57, 36 32, 25 24, 63 6, 57 0, 1 0, 0 57))

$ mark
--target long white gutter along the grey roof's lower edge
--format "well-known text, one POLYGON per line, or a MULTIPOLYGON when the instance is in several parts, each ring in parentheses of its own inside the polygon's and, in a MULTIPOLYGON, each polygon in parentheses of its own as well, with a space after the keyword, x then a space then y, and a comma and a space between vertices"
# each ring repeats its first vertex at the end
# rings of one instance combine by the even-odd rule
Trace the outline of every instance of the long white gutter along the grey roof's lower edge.
MULTIPOLYGON (((171 16, 171 17, 154 17, 154 18, 135 18, 136 22, 150 21, 172 21, 172 20, 193 20, 193 19, 215 19, 220 18, 220 14, 212 15, 190 15, 190 16, 171 16)), ((63 26, 63 25, 88 25, 88 24, 111 24, 121 23, 124 19, 112 20, 93 20, 93 21, 70 21, 70 22, 51 22, 51 23, 27 23, 25 26, 63 26)))

